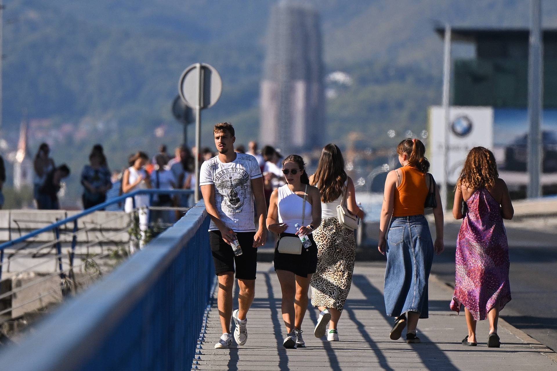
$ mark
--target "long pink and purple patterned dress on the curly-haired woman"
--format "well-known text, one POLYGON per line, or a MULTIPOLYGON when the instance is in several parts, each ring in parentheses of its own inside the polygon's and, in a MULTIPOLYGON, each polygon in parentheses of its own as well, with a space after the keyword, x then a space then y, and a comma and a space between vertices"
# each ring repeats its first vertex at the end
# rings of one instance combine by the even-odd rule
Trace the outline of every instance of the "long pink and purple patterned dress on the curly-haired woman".
POLYGON ((499 203, 486 189, 466 202, 468 211, 456 243, 455 295, 451 309, 465 306, 475 320, 485 320, 499 302, 511 300, 509 245, 499 203))

